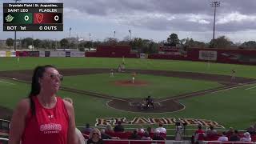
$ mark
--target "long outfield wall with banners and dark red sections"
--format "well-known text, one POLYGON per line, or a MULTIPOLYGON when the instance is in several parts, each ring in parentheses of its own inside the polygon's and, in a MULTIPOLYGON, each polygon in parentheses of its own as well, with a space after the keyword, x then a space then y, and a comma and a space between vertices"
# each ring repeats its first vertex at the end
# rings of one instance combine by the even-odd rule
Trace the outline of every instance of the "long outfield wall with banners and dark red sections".
POLYGON ((186 54, 169 52, 167 54, 130 53, 130 46, 99 46, 96 52, 81 51, 4 51, 0 57, 102 57, 102 58, 150 58, 199 62, 219 62, 256 65, 256 50, 201 49, 189 48, 186 54))

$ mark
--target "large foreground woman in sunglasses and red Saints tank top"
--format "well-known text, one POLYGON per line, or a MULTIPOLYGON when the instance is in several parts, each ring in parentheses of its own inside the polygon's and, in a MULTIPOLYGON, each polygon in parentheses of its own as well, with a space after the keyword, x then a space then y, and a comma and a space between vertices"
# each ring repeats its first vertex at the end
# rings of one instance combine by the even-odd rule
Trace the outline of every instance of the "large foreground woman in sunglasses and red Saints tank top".
POLYGON ((34 69, 29 97, 14 110, 9 144, 77 142, 74 108, 57 96, 62 78, 54 66, 34 69))

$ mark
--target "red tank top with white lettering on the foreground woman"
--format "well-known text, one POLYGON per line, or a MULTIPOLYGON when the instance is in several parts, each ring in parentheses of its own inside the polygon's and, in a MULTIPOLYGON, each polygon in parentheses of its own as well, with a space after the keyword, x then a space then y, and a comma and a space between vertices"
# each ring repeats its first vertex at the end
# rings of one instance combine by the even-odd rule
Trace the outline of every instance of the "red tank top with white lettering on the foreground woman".
POLYGON ((62 101, 57 97, 54 108, 46 109, 33 98, 35 115, 31 110, 26 117, 26 127, 22 134, 22 144, 66 144, 69 116, 62 101))

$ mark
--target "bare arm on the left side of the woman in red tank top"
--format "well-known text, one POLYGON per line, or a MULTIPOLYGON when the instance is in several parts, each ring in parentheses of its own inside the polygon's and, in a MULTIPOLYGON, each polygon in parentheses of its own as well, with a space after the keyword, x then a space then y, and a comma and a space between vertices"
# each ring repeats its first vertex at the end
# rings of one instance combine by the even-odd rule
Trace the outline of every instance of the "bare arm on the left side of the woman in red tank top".
POLYGON ((26 114, 30 110, 28 98, 18 102, 10 122, 10 135, 8 144, 19 144, 25 129, 26 114))

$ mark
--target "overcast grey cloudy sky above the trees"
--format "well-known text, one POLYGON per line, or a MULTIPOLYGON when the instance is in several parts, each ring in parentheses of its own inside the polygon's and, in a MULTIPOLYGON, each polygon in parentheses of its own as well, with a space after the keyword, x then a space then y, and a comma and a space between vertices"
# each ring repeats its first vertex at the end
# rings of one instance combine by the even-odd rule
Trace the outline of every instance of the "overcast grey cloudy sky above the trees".
MULTIPOLYGON (((214 26, 214 8, 210 0, 46 0, 64 3, 63 32, 17 32, 18 38, 66 38, 89 40, 114 37, 122 40, 148 38, 155 42, 172 34, 210 42, 214 26)), ((44 1, 44 2, 46 2, 44 1)), ((2 3, 0 0, 0 22, 2 3)), ((21 2, 32 2, 22 0, 21 2)), ((42 2, 33 0, 33 2, 42 2)), ((221 0, 217 8, 215 35, 226 35, 233 42, 256 41, 256 0, 221 0)), ((2 30, 2 24, 0 25, 2 30)), ((14 38, 14 32, 2 32, 0 39, 14 38)))

